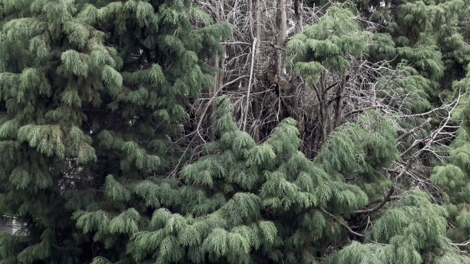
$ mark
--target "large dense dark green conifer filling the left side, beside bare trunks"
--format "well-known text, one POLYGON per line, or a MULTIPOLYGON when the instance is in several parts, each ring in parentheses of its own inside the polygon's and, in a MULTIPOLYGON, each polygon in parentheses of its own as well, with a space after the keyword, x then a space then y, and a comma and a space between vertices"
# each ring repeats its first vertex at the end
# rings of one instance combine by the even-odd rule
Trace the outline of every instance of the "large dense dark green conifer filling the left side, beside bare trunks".
POLYGON ((125 262, 159 207, 128 189, 179 155, 178 121, 213 85, 201 59, 230 29, 190 1, 4 0, 0 13, 0 215, 24 230, 1 234, 1 263, 125 262), (109 230, 82 235, 79 210, 109 230))

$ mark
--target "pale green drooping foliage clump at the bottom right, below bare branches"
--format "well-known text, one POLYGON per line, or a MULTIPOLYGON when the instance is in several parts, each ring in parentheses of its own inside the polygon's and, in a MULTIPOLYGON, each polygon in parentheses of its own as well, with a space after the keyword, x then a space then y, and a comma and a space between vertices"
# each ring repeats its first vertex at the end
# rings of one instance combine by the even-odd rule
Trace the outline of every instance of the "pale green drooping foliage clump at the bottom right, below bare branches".
MULTIPOLYGON (((383 214, 368 233, 373 243, 354 242, 338 252, 337 263, 440 263, 459 261, 450 249, 445 256, 434 261, 422 250, 434 252, 445 245, 447 213, 432 204, 427 193, 409 191, 399 202, 383 214), (379 243, 377 243, 379 242, 379 243)), ((445 245, 449 247, 450 245, 445 245)))

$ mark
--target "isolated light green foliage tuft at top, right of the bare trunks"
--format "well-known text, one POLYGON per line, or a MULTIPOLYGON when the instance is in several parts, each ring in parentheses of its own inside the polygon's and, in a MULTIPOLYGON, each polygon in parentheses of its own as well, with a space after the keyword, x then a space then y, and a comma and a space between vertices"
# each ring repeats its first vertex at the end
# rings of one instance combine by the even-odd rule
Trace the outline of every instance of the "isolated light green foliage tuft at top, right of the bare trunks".
POLYGON ((349 3, 335 3, 315 24, 287 43, 294 71, 314 85, 325 71, 344 73, 350 67, 346 56, 366 50, 368 33, 361 30, 349 3))

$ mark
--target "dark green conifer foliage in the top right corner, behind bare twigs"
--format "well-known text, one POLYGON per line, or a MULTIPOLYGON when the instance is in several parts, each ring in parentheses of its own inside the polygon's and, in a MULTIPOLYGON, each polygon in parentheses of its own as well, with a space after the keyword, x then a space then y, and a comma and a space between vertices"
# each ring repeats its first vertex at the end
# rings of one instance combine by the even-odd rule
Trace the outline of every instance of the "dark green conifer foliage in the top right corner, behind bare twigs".
POLYGON ((431 89, 425 92, 433 101, 439 93, 451 91, 452 82, 465 75, 470 58, 469 45, 458 27, 468 8, 465 1, 372 1, 368 4, 361 6, 360 12, 369 14, 370 22, 381 25, 374 36, 377 46, 370 52, 372 58, 412 65, 428 80, 431 89))

